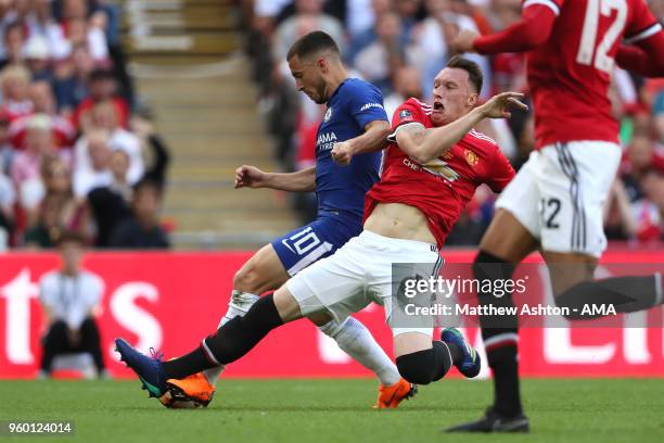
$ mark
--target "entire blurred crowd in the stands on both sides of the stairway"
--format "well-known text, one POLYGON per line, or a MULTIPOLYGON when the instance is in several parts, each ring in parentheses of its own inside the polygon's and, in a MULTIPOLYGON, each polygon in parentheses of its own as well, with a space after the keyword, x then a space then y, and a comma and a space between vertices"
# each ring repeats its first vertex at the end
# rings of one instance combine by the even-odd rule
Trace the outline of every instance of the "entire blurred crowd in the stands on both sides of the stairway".
MULTIPOLYGON (((95 248, 168 248, 159 223, 169 153, 135 93, 123 52, 120 0, 0 0, 0 251, 52 248, 75 231, 95 248)), ((285 54, 304 34, 337 41, 352 76, 381 88, 385 109, 431 99, 460 29, 520 20, 521 0, 237 0, 273 155, 284 170, 315 162, 324 106, 298 93, 285 54)), ((649 0, 664 22, 664 0, 649 0)), ((470 55, 482 98, 527 93, 523 54, 470 55)), ((616 69, 610 91, 624 147, 605 211, 610 240, 664 239, 664 80, 616 69)), ((515 168, 534 148, 533 116, 486 122, 515 168)), ((212 149, 212 147, 210 147, 212 149)), ((237 165, 230 165, 237 166, 237 165)), ((315 194, 290 195, 302 221, 315 194)), ((481 188, 448 238, 474 245, 493 215, 481 188)))

